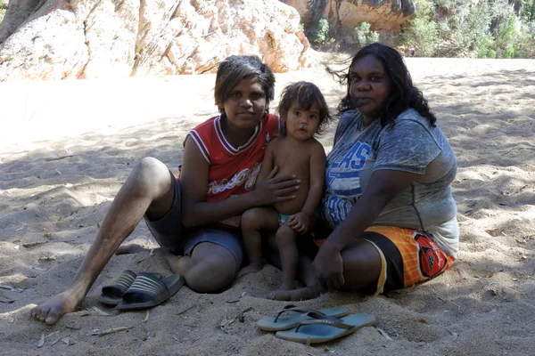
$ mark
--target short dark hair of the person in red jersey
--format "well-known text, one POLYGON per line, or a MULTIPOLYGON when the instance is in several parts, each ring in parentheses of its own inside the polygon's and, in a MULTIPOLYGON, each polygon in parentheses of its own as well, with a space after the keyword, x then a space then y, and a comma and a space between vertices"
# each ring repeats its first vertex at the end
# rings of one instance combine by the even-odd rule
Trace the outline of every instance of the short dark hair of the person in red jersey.
POLYGON ((269 102, 275 97, 275 76, 258 56, 241 55, 227 57, 225 61, 219 63, 214 99, 220 113, 225 111, 223 103, 230 98, 232 90, 243 79, 255 79, 262 86, 266 93, 266 111, 268 111, 269 102))

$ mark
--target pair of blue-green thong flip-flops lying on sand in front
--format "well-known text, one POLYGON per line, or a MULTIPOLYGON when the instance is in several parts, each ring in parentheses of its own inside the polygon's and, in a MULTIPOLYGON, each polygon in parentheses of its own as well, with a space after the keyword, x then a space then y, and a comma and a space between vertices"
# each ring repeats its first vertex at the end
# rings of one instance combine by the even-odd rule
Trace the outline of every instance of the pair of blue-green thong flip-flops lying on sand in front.
POLYGON ((276 317, 260 319, 257 326, 276 331, 275 336, 302 344, 318 344, 347 336, 359 328, 372 326, 375 317, 369 314, 352 314, 344 307, 316 311, 306 306, 286 305, 276 317), (283 315, 295 312, 294 315, 283 315))

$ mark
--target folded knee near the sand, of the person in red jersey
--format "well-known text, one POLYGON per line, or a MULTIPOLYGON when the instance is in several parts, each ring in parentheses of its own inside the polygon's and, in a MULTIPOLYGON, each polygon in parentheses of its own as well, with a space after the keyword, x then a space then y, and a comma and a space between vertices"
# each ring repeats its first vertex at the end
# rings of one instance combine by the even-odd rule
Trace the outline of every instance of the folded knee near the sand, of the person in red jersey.
POLYGON ((198 293, 213 293, 228 287, 235 279, 235 256, 225 247, 202 242, 193 249, 185 266, 188 287, 198 293))

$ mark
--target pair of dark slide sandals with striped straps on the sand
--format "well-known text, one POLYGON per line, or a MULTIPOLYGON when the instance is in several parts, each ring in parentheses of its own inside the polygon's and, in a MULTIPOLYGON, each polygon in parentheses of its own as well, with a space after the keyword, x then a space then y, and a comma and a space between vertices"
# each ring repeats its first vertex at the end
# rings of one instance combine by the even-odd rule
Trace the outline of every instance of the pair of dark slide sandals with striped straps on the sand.
POLYGON ((160 273, 122 271, 110 285, 103 287, 98 300, 115 305, 119 311, 135 311, 159 305, 184 286, 184 277, 171 274, 163 278, 160 273))

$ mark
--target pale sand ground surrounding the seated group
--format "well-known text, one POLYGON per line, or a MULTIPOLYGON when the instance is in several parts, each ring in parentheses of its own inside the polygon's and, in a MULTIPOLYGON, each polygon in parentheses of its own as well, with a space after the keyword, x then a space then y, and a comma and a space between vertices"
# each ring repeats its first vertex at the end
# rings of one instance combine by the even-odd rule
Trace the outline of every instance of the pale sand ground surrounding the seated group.
MULTIPOLYGON (((150 312, 119 313, 98 303, 101 287, 120 271, 169 274, 166 262, 148 253, 114 256, 79 312, 52 327, 31 320, 30 308, 69 286, 136 162, 152 156, 177 171, 186 132, 216 114, 215 77, 0 84, 0 353, 531 354, 535 61, 407 64, 457 154, 459 259, 439 278, 390 295, 335 292, 299 303, 344 305, 378 320, 377 328, 319 346, 255 327, 286 304, 261 297, 280 279, 272 266, 216 295, 183 287, 150 312), (116 332, 92 335, 110 329, 116 332)), ((332 108, 342 93, 321 68, 276 77, 277 94, 285 83, 314 81, 332 108)), ((322 138, 327 150, 332 140, 333 127, 322 138)), ((144 223, 131 242, 156 247, 144 223)))

